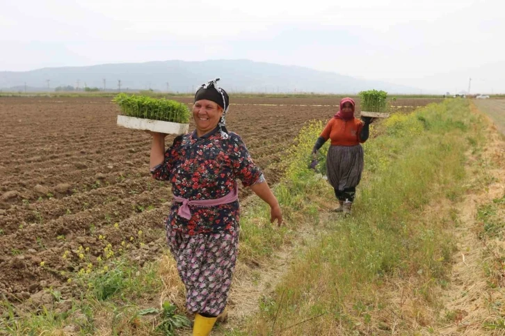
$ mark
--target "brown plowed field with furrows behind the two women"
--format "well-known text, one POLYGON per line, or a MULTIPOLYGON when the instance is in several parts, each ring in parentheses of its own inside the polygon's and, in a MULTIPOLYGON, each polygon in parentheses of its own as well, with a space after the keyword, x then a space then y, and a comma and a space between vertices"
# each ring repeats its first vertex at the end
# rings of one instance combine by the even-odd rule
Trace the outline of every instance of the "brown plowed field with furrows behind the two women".
MULTIPOLYGON (((395 105, 411 111, 436 101, 395 105)), ((232 103, 228 129, 242 136, 270 184, 278 182, 278 163, 300 127, 328 120, 338 104, 309 98, 232 103)), ((109 244, 115 256, 125 253, 139 263, 161 250, 170 186, 150 176, 150 136, 117 127, 117 113, 109 98, 0 99, 0 295, 22 301, 53 286, 71 296, 75 285, 67 284, 67 272, 95 264, 109 244)), ((241 199, 248 193, 241 190, 241 199)))

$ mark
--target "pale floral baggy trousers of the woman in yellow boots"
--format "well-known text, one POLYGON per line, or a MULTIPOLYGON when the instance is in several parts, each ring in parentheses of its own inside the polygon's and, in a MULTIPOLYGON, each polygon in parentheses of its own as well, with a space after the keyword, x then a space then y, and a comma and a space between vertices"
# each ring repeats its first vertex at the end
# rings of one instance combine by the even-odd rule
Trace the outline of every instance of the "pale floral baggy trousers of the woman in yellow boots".
POLYGON ((168 247, 186 287, 186 309, 217 316, 226 306, 239 247, 239 228, 184 234, 166 225, 168 247))

